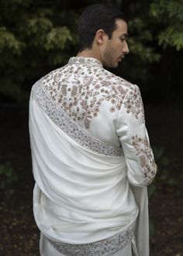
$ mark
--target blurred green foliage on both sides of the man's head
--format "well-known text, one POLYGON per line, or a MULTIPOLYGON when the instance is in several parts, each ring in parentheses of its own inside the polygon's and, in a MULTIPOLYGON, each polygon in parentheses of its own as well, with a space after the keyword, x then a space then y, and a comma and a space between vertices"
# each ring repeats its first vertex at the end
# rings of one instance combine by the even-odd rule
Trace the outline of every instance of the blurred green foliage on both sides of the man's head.
MULTIPOLYGON (((16 102, 28 102, 33 83, 54 68, 67 63, 69 57, 77 54, 77 24, 81 10, 100 1, 40 1, 6 0, 1 2, 0 16, 0 95, 6 95, 16 102)), ((157 83, 154 64, 161 70, 159 81, 171 88, 176 67, 168 61, 179 63, 183 49, 183 5, 182 0, 132 0, 104 1, 115 3, 129 17, 130 53, 119 75, 140 85, 157 83)), ((179 72, 181 76, 182 72, 179 72)), ((177 76, 178 77, 178 76, 177 76)), ((179 78, 176 78, 179 79, 179 78)), ((181 78, 180 78, 181 79, 181 78)), ((174 81, 180 91, 180 79, 174 81)), ((176 88, 174 86, 174 88, 176 88)), ((161 90, 159 88, 159 90, 161 90)))

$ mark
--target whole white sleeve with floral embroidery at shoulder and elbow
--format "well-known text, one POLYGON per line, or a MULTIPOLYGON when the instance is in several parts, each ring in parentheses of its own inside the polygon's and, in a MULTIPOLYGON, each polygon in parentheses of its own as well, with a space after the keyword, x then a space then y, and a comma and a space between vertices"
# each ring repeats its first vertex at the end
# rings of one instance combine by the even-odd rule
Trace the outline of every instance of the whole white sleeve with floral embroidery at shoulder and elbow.
POLYGON ((132 185, 149 185, 156 175, 157 165, 145 126, 140 89, 129 89, 116 122, 127 164, 127 178, 132 185))

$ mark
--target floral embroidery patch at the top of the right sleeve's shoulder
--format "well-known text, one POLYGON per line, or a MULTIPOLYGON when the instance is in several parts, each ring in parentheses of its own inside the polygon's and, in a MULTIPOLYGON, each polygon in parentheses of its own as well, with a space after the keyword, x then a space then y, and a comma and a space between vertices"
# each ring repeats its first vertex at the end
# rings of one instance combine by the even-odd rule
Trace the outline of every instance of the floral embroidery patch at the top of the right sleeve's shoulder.
POLYGON ((143 102, 138 87, 134 87, 133 90, 129 90, 123 105, 125 106, 127 113, 132 113, 136 119, 139 119, 141 116, 143 123, 145 123, 143 102))

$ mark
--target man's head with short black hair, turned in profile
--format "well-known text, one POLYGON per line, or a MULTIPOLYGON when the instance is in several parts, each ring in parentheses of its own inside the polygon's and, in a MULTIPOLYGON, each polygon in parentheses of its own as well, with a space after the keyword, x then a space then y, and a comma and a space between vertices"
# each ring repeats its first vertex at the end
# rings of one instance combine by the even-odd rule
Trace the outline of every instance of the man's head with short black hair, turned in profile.
POLYGON ((90 5, 81 14, 78 33, 79 52, 91 51, 106 67, 117 67, 129 49, 126 18, 115 7, 90 5))

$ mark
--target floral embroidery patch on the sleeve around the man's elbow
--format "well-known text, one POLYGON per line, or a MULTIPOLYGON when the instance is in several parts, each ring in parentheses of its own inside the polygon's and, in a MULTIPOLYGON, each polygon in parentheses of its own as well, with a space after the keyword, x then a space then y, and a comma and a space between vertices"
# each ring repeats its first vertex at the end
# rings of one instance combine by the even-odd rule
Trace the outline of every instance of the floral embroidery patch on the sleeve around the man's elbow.
POLYGON ((143 168, 144 181, 149 185, 156 175, 157 165, 154 161, 154 155, 150 148, 147 137, 132 137, 132 144, 136 150, 136 155, 140 159, 140 165, 143 168))

